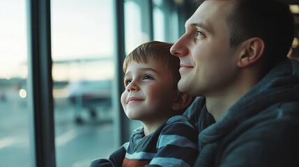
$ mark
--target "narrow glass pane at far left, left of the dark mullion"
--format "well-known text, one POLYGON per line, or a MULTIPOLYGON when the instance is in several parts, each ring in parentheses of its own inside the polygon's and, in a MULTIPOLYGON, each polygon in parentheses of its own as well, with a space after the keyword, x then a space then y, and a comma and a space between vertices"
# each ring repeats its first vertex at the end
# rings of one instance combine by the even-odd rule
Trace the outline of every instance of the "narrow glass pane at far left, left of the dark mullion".
POLYGON ((26 2, 0 0, 0 166, 31 167, 26 2), (16 161, 17 159, 17 161, 16 161))

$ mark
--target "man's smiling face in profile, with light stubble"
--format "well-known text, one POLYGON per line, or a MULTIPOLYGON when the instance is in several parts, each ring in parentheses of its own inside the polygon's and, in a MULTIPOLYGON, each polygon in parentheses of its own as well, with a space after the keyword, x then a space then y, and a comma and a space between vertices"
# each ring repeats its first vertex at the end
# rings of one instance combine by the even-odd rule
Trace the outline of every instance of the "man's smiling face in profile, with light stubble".
POLYGON ((181 60, 181 92, 213 97, 233 84, 238 53, 229 45, 226 18, 231 7, 231 1, 204 1, 185 23, 185 34, 171 47, 181 60))

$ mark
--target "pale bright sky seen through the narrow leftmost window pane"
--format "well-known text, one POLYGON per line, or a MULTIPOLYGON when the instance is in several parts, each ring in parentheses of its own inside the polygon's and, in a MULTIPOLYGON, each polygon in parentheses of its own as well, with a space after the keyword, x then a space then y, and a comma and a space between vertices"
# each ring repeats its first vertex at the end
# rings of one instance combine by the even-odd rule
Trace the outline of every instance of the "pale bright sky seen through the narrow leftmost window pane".
POLYGON ((0 0, 0 4, 0 78, 10 78, 27 55, 25 1, 0 0))

